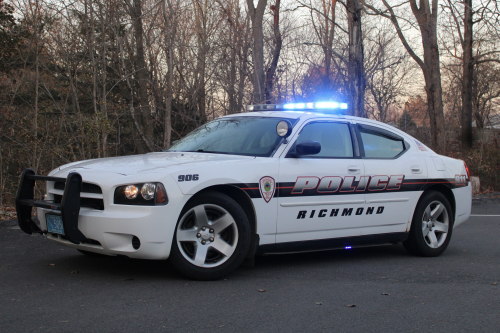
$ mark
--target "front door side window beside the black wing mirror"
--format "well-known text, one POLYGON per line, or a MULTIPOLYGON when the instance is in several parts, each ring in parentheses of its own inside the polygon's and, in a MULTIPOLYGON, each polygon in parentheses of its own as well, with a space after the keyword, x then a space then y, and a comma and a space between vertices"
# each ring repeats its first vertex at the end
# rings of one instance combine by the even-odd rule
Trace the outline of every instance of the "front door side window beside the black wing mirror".
POLYGON ((295 145, 304 141, 317 141, 321 144, 321 151, 315 155, 307 155, 311 158, 352 158, 351 132, 349 125, 337 122, 311 122, 304 126, 295 141, 295 145))

